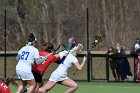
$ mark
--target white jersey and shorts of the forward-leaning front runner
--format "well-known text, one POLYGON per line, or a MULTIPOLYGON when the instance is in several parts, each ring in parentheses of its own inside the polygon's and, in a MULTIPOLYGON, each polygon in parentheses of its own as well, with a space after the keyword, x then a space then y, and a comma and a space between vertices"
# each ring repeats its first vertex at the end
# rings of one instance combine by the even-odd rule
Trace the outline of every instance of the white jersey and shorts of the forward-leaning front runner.
MULTIPOLYGON (((60 56, 61 57, 61 56, 60 56)), ((68 69, 73 63, 78 62, 77 58, 72 54, 68 54, 65 60, 57 67, 57 69, 51 74, 50 81, 58 82, 67 79, 68 69)))

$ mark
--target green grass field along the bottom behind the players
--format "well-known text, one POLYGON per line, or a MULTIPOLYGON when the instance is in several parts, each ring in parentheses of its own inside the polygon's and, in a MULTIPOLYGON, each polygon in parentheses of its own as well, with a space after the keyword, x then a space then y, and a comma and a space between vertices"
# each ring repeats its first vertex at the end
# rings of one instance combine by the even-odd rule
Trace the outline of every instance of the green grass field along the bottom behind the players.
MULTIPOLYGON (((128 82, 77 82, 79 85, 75 93, 140 93, 139 83, 128 82)), ((12 93, 15 93, 16 88, 10 85, 12 93)), ((68 88, 62 85, 56 85, 48 93, 64 93, 68 88)))

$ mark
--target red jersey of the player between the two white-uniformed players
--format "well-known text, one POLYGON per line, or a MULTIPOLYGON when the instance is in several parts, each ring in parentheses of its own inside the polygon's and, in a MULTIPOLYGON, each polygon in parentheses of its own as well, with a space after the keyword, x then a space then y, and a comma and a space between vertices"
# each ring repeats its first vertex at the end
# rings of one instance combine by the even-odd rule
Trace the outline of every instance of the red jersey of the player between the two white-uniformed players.
MULTIPOLYGON (((45 51, 39 51, 39 55, 40 56, 46 56, 46 54, 48 54, 48 52, 45 51)), ((48 68, 48 66, 55 62, 57 60, 57 58, 54 55, 50 55, 49 58, 43 63, 43 64, 35 64, 32 66, 32 70, 36 71, 37 73, 39 73, 40 75, 44 75, 46 69, 48 68)))

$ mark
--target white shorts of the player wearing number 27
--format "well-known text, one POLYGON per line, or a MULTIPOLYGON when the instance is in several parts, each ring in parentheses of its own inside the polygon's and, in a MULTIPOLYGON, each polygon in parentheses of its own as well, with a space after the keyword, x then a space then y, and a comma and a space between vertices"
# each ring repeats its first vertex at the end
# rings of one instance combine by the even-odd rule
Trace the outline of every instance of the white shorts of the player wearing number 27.
POLYGON ((19 79, 22 79, 22 80, 32 80, 32 79, 34 79, 34 76, 33 76, 32 72, 24 72, 24 71, 16 70, 16 73, 17 73, 17 77, 19 79))

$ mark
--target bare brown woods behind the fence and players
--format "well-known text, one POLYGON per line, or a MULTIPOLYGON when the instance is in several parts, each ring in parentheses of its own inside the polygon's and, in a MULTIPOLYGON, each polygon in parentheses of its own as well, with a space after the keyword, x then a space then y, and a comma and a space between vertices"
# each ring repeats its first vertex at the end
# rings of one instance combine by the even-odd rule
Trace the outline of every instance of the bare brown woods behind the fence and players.
POLYGON ((4 10, 6 9, 7 50, 18 50, 34 32, 39 43, 51 41, 67 45, 70 36, 87 43, 95 35, 103 42, 96 50, 120 43, 128 50, 140 37, 139 0, 0 0, 0 50, 4 50, 4 10))

